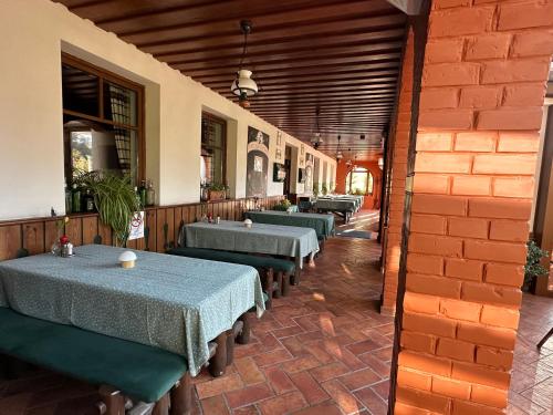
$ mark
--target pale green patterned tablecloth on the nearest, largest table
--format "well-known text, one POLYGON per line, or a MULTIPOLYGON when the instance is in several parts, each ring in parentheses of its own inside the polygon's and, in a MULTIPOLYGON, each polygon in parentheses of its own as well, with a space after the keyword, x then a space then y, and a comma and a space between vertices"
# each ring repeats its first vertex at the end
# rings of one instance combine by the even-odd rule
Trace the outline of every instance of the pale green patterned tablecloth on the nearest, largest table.
POLYGON ((0 262, 0 307, 62 324, 157 346, 187 356, 191 375, 209 359, 208 342, 258 307, 255 269, 88 245, 73 258, 51 253, 0 262))

